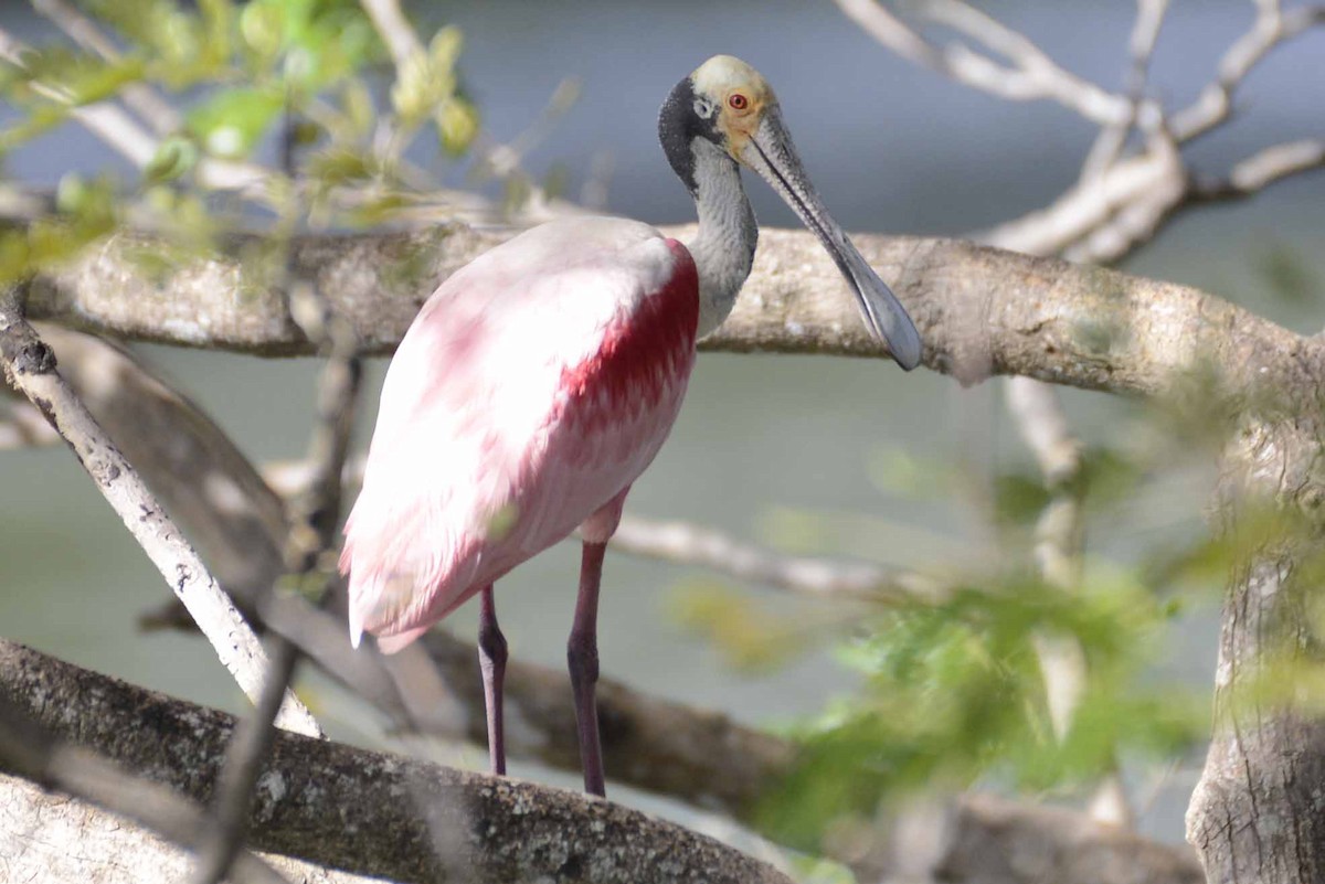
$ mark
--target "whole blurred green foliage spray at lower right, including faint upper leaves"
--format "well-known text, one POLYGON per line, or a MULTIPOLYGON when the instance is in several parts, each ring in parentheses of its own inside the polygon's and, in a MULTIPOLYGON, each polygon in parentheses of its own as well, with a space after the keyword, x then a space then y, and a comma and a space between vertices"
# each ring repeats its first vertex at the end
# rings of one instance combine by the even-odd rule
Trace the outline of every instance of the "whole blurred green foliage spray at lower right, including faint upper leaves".
MULTIPOLYGON (((1162 675, 1179 615, 1212 607, 1234 562, 1312 532, 1305 517, 1251 503, 1218 535, 1195 524, 1196 512, 1181 531, 1138 519, 1158 517, 1165 483, 1210 487, 1216 453, 1238 431, 1219 386, 1212 369, 1198 367, 1171 398, 1133 404, 1110 425, 1110 441, 1083 449, 1079 468, 1052 484, 1034 463, 990 470, 877 453, 867 471, 881 492, 942 508, 947 523, 974 524, 984 539, 959 541, 959 557, 921 569, 937 593, 836 599, 828 613, 816 602, 778 605, 774 615, 757 594, 712 581, 684 585, 674 615, 730 663, 759 672, 827 644, 844 668, 822 712, 783 725, 799 745, 798 762, 770 791, 758 826, 815 851, 823 838, 920 793, 979 786, 1084 797, 1120 764, 1166 766, 1203 745, 1208 692, 1162 675), (1088 537, 1071 586, 1045 582, 1037 569, 1044 513, 1064 502, 1081 507, 1088 537), (1125 537, 1130 552, 1106 554, 1110 535, 1125 537), (1069 646, 1085 664, 1061 733, 1047 646, 1069 646)), ((845 513, 779 511, 765 521, 766 540, 822 554, 886 548, 885 535, 922 536, 916 525, 855 521, 865 528, 845 513), (843 543, 849 535, 855 541, 843 543)), ((1320 558, 1325 577, 1325 553, 1320 558)), ((1325 676, 1317 682, 1325 685, 1325 676)))

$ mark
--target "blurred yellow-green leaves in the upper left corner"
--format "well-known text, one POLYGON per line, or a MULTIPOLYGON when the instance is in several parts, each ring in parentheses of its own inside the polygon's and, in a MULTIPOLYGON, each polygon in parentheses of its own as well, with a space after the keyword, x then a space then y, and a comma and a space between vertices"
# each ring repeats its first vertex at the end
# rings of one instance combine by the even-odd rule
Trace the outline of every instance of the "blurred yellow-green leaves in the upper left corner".
POLYGON ((396 70, 354 0, 89 0, 83 11, 115 53, 56 40, 3 65, 0 95, 17 114, 0 130, 0 159, 82 109, 105 107, 155 154, 127 181, 70 173, 54 220, 0 230, 0 281, 29 277, 130 218, 191 249, 262 216, 286 226, 305 214, 321 225, 379 222, 417 196, 421 176, 411 176, 405 151, 424 127, 450 156, 478 132, 452 28, 396 70), (150 89, 166 110, 143 111, 127 101, 132 89, 150 89), (273 157, 285 140, 299 148, 293 169, 273 157))

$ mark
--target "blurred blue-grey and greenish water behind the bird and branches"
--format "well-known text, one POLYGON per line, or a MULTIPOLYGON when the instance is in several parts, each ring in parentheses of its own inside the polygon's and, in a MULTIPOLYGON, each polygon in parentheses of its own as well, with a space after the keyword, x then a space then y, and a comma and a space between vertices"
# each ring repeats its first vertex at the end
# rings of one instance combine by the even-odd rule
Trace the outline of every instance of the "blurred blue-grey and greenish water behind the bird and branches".
MULTIPOLYGON (((559 89, 563 98, 574 90, 574 101, 523 156, 534 179, 571 200, 651 222, 693 220, 657 146, 656 114, 676 81, 716 53, 739 56, 770 79, 812 179, 852 230, 962 236, 1018 217, 1076 180, 1096 134, 1057 106, 1000 102, 898 60, 827 0, 416 7, 421 33, 443 24, 461 29, 460 69, 492 138, 515 139, 559 89), (574 86, 563 86, 567 78, 574 86)), ((999 0, 980 8, 1075 73, 1121 87, 1133 4, 999 0)), ((1175 0, 1154 57, 1153 91, 1171 106, 1194 99, 1251 17, 1252 5, 1238 0, 1175 0)), ((0 21, 29 42, 50 38, 25 4, 5 3, 0 21)), ((1239 94, 1239 119, 1190 148, 1196 168, 1222 172, 1257 147, 1318 134, 1325 90, 1309 86, 1318 83, 1321 58, 1325 33, 1308 33, 1276 52, 1239 94)), ((441 159, 425 144, 413 159, 452 185, 473 181, 466 163, 441 159)), ((54 185, 72 169, 98 172, 107 163, 115 168, 99 143, 64 126, 12 152, 4 172, 54 185)), ((795 225, 762 183, 747 185, 762 224, 795 225)), ((1322 206, 1325 176, 1293 177, 1249 201, 1185 213, 1124 269, 1191 285, 1296 331, 1316 332, 1325 295, 1322 206), (1285 266, 1298 285, 1276 283, 1285 266)), ((313 360, 138 349, 254 461, 302 457, 318 368, 313 360)), ((360 446, 383 369, 384 361, 374 363, 360 446)), ((973 500, 996 476, 1032 468, 1004 414, 1000 382, 963 390, 950 378, 926 371, 904 375, 890 363, 706 353, 681 420, 636 484, 628 509, 694 520, 794 553, 908 568, 935 561, 979 566, 998 537, 973 500), (957 486, 966 491, 955 492, 957 486)), ((1073 390, 1064 398, 1073 427, 1090 445, 1126 445, 1138 433, 1142 418, 1134 404, 1073 390)), ((1128 507, 1088 521, 1092 568, 1124 569, 1202 533, 1208 459, 1196 455, 1178 467, 1147 478, 1128 507)), ((204 642, 139 633, 139 614, 158 606, 167 590, 65 449, 5 453, 0 488, 7 500, 0 507, 0 631, 7 638, 178 696, 244 708, 204 642)), ((514 656, 563 664, 576 566, 575 548, 562 545, 500 585, 498 611, 514 656)), ((799 623, 806 634, 798 638, 807 641, 790 643, 786 654, 755 654, 734 664, 731 648, 686 626, 697 593, 731 592, 718 584, 698 570, 610 557, 600 614, 604 675, 770 727, 815 713, 827 697, 852 689, 857 676, 840 664, 833 644, 810 641, 845 629, 840 609, 741 588, 761 610, 799 623)), ((1204 592, 1195 593, 1178 627, 1161 639, 1153 671, 1155 678, 1179 676, 1203 697, 1214 668, 1220 586, 1211 581, 1198 589, 1204 592)), ((469 637, 474 618, 462 610, 447 627, 469 637)), ((305 678, 302 692, 333 736, 390 744, 374 716, 333 685, 305 678)), ((435 752, 450 762, 485 764, 478 749, 435 752)), ((1182 810, 1200 761, 1196 752, 1158 769, 1128 768, 1142 831, 1181 840, 1182 810)), ((576 779, 527 768, 517 773, 576 779)))

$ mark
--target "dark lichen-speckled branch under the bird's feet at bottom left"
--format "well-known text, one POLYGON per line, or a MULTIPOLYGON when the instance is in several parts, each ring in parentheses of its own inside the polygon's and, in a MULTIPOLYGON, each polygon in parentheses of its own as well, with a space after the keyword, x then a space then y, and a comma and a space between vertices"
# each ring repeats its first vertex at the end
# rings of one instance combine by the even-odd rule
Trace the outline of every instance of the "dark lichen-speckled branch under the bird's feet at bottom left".
MULTIPOLYGON (((61 740, 196 802, 232 716, 0 642, 0 693, 61 740)), ((42 838, 33 815, 5 824, 42 838)), ((710 838, 578 793, 281 733, 258 779, 253 848, 399 881, 787 884, 710 838)))

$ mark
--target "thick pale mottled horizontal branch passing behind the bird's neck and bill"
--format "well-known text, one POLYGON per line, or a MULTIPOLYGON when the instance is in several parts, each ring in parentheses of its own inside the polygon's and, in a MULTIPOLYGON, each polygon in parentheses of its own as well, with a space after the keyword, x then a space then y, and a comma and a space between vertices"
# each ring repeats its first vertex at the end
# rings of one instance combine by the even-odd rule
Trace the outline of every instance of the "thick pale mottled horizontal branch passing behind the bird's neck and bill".
MULTIPOLYGON (((685 237, 689 229, 668 229, 685 237)), ((437 283, 509 237, 460 224, 425 232, 306 237, 294 267, 317 281, 364 345, 387 352, 437 283)), ((977 381, 991 373, 1154 393, 1195 365, 1235 385, 1314 382, 1321 348, 1194 288, 954 240, 861 234, 861 253, 906 304, 925 364, 977 381)), ((250 254, 256 240, 233 243, 250 254)), ((125 337, 264 355, 309 353, 261 261, 170 255, 119 234, 34 281, 29 311, 125 337)), ((709 349, 884 356, 832 261, 806 232, 763 230, 754 271, 709 349)))

